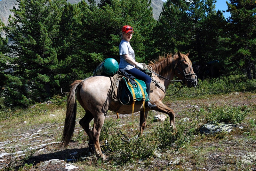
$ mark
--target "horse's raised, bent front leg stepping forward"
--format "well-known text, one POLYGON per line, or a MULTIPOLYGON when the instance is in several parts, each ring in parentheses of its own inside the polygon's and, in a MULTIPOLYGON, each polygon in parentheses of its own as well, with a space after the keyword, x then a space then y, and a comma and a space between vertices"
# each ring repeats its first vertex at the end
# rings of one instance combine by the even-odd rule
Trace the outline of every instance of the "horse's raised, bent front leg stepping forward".
POLYGON ((161 100, 157 100, 155 103, 156 103, 156 108, 154 108, 154 110, 168 114, 170 117, 170 125, 174 130, 176 130, 174 111, 168 108, 167 106, 165 106, 161 100))

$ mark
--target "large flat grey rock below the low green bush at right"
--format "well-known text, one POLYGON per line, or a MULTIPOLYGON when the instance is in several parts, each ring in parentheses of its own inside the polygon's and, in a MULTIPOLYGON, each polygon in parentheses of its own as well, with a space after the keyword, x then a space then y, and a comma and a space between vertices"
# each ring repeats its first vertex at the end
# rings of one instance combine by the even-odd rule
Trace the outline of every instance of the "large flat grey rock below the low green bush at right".
POLYGON ((206 123, 199 130, 201 134, 214 134, 217 132, 229 133, 236 125, 228 123, 206 123))

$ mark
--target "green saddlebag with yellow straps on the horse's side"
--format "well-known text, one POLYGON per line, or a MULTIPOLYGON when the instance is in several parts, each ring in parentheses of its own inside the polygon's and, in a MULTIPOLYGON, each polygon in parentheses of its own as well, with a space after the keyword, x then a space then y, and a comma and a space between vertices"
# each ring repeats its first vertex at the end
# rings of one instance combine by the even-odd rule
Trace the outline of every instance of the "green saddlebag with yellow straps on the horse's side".
MULTIPOLYGON (((148 101, 148 94, 146 93, 146 84, 144 81, 136 79, 135 80, 137 82, 139 82, 139 84, 142 87, 142 90, 144 91, 145 94, 145 101, 148 101)), ((140 104, 143 101, 143 96, 142 96, 142 92, 140 90, 140 86, 136 83, 136 84, 130 84, 128 85, 127 81, 125 78, 123 78, 121 80, 121 82, 119 83, 119 88, 118 88, 118 93, 119 93, 119 99, 120 101, 124 104, 124 105, 131 105, 132 101, 133 101, 133 96, 132 96, 132 89, 134 90, 135 93, 135 97, 136 97, 136 101, 135 104, 140 104), (132 87, 130 86, 132 85, 132 87)))

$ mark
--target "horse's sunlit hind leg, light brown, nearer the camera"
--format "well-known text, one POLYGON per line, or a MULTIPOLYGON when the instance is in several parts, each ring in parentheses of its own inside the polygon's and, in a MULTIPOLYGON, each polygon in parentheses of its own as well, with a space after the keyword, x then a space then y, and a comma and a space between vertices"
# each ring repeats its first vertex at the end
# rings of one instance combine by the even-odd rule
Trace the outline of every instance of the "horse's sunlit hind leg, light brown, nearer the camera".
POLYGON ((95 143, 94 144, 95 145, 95 154, 98 158, 102 158, 102 160, 106 160, 106 157, 100 149, 99 138, 100 138, 100 130, 104 124, 104 120, 105 120, 105 115, 103 115, 103 114, 95 115, 94 124, 93 124, 93 128, 92 128, 92 138, 95 143))

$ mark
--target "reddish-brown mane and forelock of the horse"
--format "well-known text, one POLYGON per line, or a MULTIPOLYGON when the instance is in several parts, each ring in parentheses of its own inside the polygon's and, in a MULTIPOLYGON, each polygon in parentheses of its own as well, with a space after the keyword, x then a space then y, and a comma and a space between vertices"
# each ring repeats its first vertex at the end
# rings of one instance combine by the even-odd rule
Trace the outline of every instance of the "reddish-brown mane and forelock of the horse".
MULTIPOLYGON (((182 57, 184 57, 185 61, 187 63, 190 63, 192 65, 191 61, 188 59, 188 56, 181 54, 182 57)), ((166 77, 166 75, 172 71, 172 59, 175 63, 177 59, 179 58, 178 54, 164 54, 164 56, 159 55, 158 59, 149 61, 148 65, 152 67, 152 70, 155 71, 157 74, 162 75, 166 77), (166 56, 165 56, 166 55, 166 56)), ((176 67, 178 62, 175 63, 174 68, 176 67)))

